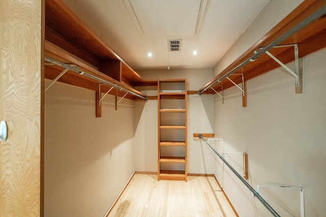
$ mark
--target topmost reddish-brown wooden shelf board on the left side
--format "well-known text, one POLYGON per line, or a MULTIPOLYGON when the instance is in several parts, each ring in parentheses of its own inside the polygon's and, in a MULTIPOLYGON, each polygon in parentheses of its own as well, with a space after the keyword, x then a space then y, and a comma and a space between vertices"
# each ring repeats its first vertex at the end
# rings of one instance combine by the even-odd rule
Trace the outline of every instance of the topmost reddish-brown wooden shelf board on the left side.
POLYGON ((121 78, 117 79, 118 81, 126 82, 131 86, 134 86, 135 82, 143 82, 143 79, 62 1, 46 1, 45 7, 47 26, 45 37, 48 41, 95 64, 96 67, 99 67, 96 62, 102 59, 118 60, 121 63, 121 78))

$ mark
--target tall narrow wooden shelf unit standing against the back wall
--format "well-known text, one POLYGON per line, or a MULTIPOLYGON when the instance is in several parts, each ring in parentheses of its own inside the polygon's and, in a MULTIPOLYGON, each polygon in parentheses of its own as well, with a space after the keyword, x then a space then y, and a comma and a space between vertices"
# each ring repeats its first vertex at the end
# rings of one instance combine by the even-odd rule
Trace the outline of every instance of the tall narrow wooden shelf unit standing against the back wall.
POLYGON ((158 80, 158 180, 187 181, 187 82, 158 80))

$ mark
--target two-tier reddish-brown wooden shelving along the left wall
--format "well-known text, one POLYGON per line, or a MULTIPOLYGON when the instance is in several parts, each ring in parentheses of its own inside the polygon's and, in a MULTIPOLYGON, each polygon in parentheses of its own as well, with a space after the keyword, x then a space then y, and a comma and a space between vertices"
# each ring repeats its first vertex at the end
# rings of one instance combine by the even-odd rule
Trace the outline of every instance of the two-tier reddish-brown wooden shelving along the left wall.
MULTIPOLYGON (((156 86, 156 80, 143 80, 61 0, 45 1, 44 32, 44 54, 48 57, 62 63, 74 65, 80 70, 117 84, 141 96, 146 95, 135 90, 135 86, 156 86)), ((53 80, 62 71, 62 67, 45 62, 45 78, 53 80)), ((58 81, 95 91, 99 90, 100 83, 70 70, 58 81)), ((104 85, 101 92, 105 93, 110 88, 110 86, 104 85)), ((109 94, 123 97, 125 92, 115 88, 109 94)), ((139 99, 130 94, 125 98, 130 100, 139 99)))

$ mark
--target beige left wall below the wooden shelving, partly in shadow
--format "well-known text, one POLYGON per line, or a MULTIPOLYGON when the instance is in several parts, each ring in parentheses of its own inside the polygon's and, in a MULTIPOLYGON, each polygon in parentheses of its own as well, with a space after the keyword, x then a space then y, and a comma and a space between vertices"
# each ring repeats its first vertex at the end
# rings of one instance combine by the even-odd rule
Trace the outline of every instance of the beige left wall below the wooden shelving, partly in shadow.
POLYGON ((46 91, 45 216, 103 216, 133 174, 133 101, 103 101, 96 118, 94 91, 46 91))

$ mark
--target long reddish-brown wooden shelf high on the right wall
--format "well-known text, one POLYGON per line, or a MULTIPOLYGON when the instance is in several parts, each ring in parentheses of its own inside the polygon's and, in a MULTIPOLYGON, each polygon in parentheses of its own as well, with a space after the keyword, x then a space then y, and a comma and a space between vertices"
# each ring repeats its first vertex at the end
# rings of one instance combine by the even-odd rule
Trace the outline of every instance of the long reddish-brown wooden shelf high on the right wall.
POLYGON ((298 57, 303 57, 326 47, 325 14, 326 1, 304 1, 265 36, 239 56, 230 66, 199 89, 199 94, 215 94, 215 91, 211 88, 219 92, 222 88, 227 89, 234 86, 231 81, 224 79, 229 73, 231 73, 229 78, 234 83, 239 84, 242 82, 241 74, 243 74, 244 81, 247 81, 280 67, 280 64, 264 52, 265 50, 277 57, 283 64, 287 64, 295 59, 293 46, 282 47, 278 45, 297 44, 298 57), (313 21, 307 22, 309 19, 313 21), (287 37, 284 38, 284 36, 287 37), (261 50, 262 52, 259 53, 261 50), (258 58, 255 61, 250 61, 253 57, 258 58))

